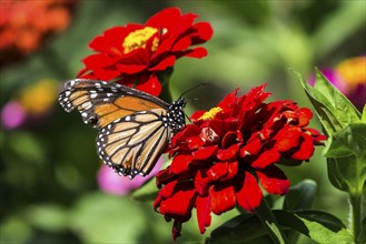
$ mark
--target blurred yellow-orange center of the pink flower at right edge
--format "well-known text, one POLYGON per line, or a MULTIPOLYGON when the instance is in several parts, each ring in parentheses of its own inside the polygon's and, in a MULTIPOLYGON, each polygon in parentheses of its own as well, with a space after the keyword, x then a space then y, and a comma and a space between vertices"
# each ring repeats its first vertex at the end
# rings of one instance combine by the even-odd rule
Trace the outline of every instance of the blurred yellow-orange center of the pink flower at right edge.
POLYGON ((366 82, 366 57, 357 57, 343 61, 336 69, 339 75, 352 88, 366 82))

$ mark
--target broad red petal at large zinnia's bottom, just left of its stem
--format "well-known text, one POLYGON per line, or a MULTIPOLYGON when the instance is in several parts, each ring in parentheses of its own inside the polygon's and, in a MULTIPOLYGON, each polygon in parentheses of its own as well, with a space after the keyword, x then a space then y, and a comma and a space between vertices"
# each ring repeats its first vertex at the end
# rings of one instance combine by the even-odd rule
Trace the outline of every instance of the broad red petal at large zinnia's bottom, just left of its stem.
POLYGON ((249 172, 245 172, 245 180, 241 189, 236 193, 238 204, 253 212, 254 209, 260 205, 263 193, 257 183, 257 180, 249 172))

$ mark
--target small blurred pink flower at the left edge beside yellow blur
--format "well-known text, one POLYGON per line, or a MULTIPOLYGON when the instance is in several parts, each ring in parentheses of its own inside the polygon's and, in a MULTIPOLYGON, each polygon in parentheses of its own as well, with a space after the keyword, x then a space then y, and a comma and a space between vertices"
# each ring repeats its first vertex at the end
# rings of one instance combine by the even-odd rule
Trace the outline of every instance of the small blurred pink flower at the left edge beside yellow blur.
POLYGON ((23 124, 26 111, 17 101, 8 102, 1 110, 1 124, 7 130, 13 130, 23 124))

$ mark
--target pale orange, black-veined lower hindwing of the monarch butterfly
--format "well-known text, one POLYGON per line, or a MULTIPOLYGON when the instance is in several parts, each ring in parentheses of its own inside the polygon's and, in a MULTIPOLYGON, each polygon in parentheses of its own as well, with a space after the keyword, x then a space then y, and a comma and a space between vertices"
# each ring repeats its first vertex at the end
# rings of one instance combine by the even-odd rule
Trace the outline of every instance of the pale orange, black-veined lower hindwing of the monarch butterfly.
POLYGON ((119 174, 148 174, 170 139, 171 130, 160 119, 164 113, 160 109, 137 112, 100 130, 100 159, 119 174))

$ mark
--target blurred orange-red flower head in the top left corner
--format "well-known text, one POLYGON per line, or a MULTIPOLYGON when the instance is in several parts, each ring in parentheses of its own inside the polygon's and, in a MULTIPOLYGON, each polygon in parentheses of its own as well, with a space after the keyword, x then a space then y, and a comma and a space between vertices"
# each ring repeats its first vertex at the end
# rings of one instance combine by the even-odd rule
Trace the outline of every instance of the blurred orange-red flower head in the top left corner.
POLYGON ((14 61, 39 48, 51 33, 70 22, 76 0, 1 1, 0 64, 14 61), (47 21, 46 21, 47 20, 47 21))

